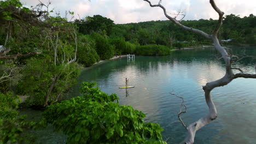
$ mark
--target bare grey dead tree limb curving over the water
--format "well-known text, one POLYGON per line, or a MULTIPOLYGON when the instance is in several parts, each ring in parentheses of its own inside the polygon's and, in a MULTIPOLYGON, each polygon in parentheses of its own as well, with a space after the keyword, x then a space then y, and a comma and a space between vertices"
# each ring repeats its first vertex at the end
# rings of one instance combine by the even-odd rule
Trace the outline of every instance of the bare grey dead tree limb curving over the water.
POLYGON ((232 57, 230 57, 228 55, 228 52, 226 52, 225 48, 219 44, 219 40, 217 38, 218 31, 219 31, 220 27, 222 26, 224 12, 217 7, 214 0, 210 0, 210 3, 212 5, 212 8, 219 14, 219 20, 218 20, 216 28, 214 29, 214 31, 211 35, 203 32, 203 31, 200 31, 199 29, 184 26, 181 23, 179 23, 179 21, 177 21, 173 17, 169 16, 166 13, 165 7, 161 5, 162 0, 160 0, 158 4, 152 4, 149 0, 143 0, 143 1, 148 2, 150 7, 160 7, 164 11, 164 15, 167 17, 167 19, 172 21, 175 25, 182 27, 183 29, 185 29, 187 31, 199 33, 207 39, 211 39, 214 43, 215 49, 220 53, 220 55, 224 59, 225 69, 226 69, 225 75, 221 79, 212 81, 212 82, 208 82, 208 83, 206 83, 205 86, 203 86, 203 91, 205 92, 205 100, 208 105, 209 113, 205 117, 200 118, 199 120, 197 120, 196 122, 194 122, 188 126, 187 137, 185 137, 185 139, 181 142, 181 143, 187 143, 187 144, 194 143, 196 131, 201 129, 202 127, 204 127, 205 125, 207 125, 208 123, 212 122, 214 119, 217 118, 217 109, 216 109, 216 106, 214 105, 213 100, 211 98, 212 89, 214 89, 216 87, 228 85, 228 83, 230 83, 232 80, 234 80, 238 77, 256 79, 256 74, 243 74, 243 73, 234 74, 234 72, 233 72, 234 68, 232 68, 232 62, 234 62, 234 59, 232 59, 232 57))

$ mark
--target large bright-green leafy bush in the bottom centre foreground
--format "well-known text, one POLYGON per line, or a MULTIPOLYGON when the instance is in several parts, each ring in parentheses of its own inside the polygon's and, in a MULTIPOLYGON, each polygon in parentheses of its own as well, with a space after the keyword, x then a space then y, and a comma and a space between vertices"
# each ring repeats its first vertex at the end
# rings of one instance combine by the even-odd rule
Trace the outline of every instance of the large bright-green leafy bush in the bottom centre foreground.
POLYGON ((144 113, 119 105, 116 94, 108 95, 96 83, 83 83, 83 97, 48 107, 44 121, 62 130, 67 143, 166 143, 159 124, 144 123, 144 113))

